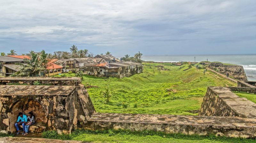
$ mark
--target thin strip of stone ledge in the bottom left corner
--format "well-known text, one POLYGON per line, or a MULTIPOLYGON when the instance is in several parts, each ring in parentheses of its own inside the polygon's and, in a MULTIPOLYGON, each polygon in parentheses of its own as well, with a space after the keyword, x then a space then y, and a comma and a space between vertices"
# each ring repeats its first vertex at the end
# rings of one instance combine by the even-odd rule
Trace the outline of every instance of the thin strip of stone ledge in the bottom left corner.
POLYGON ((76 140, 43 139, 43 138, 20 138, 20 137, 0 137, 0 143, 89 143, 76 140))

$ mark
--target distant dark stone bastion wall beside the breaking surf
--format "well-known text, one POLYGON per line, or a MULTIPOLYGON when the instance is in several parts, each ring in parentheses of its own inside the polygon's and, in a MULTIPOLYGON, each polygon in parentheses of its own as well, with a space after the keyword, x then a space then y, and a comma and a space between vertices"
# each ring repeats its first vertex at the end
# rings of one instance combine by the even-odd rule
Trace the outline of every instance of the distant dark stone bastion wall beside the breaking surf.
POLYGON ((208 68, 224 75, 229 73, 229 77, 233 77, 234 79, 247 80, 244 67, 242 65, 224 65, 221 63, 211 63, 208 65, 208 68))

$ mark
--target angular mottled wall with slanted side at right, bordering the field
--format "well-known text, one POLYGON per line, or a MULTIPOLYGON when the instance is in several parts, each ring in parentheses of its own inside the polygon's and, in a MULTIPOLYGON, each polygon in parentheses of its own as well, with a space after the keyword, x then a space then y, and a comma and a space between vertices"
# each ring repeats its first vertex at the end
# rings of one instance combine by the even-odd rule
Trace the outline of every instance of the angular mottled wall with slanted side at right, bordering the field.
POLYGON ((208 87, 199 115, 256 117, 256 104, 234 94, 228 87, 208 87))

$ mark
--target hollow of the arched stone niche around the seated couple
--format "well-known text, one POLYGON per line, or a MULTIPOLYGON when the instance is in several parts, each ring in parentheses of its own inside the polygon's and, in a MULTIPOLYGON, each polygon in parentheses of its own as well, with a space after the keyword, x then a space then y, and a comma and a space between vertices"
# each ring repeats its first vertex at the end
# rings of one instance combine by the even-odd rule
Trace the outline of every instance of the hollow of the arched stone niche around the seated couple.
POLYGON ((10 121, 10 132, 15 132, 16 128, 14 124, 17 121, 19 112, 28 115, 28 112, 33 112, 35 115, 35 122, 46 123, 46 113, 44 107, 37 101, 29 98, 23 98, 15 102, 8 112, 10 121))

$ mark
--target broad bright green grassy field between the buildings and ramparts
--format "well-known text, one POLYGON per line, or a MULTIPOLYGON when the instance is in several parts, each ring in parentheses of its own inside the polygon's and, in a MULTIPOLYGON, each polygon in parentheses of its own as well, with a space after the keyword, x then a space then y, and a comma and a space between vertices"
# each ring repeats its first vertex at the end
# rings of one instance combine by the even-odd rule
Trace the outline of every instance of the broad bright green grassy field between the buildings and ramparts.
POLYGON ((172 115, 197 115, 188 111, 200 109, 208 86, 235 86, 213 73, 206 72, 204 75, 204 69, 193 67, 183 71, 188 68, 188 64, 182 65, 181 69, 180 66, 164 64, 164 68, 171 71, 157 70, 154 65, 160 64, 145 63, 143 73, 123 79, 84 75, 82 83, 85 86, 98 86, 88 89, 97 112, 172 115), (108 103, 100 95, 107 83, 113 92, 108 103))

